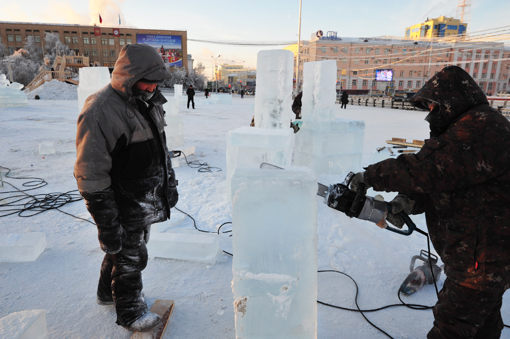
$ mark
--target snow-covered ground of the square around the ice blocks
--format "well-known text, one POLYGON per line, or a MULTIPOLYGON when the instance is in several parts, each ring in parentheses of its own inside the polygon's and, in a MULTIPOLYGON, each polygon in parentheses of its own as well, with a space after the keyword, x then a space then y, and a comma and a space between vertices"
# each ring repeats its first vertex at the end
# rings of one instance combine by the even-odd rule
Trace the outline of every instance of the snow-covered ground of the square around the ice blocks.
MULTIPOLYGON (((175 169, 179 179, 177 207, 193 216, 197 226, 215 231, 231 221, 231 205, 225 193, 225 135, 231 129, 249 125, 254 97, 234 96, 233 105, 200 105, 195 110, 180 106, 184 116, 185 140, 196 146, 189 160, 207 162, 222 171, 199 173, 182 160, 175 169)), ((348 106, 337 117, 366 122, 363 165, 370 152, 385 146, 392 137, 428 138, 425 112, 348 106)), ((29 107, 0 109, 0 166, 12 169, 12 176, 44 178, 48 185, 30 193, 67 192, 76 189, 73 177, 77 100, 30 100, 29 107), (38 144, 53 141, 56 154, 40 155, 38 144)), ((5 175, 2 169, 2 174, 5 175)), ((27 180, 5 178, 20 187, 27 180)), ((343 181, 342 175, 323 175, 319 182, 343 181)), ((0 198, 11 191, 0 188, 0 198)), ((358 302, 364 309, 399 303, 397 290, 409 274, 413 255, 426 249, 425 237, 409 237, 381 230, 372 223, 349 219, 327 208, 320 197, 318 235, 319 269, 340 270, 352 276, 360 288, 358 302)), ((89 218, 83 201, 62 211, 89 218)), ((193 229, 189 218, 172 210, 174 227, 193 229)), ((416 218, 425 229, 423 218, 416 218)), ((130 338, 131 332, 115 324, 113 306, 99 306, 95 292, 104 253, 99 249, 95 226, 58 211, 31 218, 17 215, 0 218, 0 232, 46 233, 47 248, 33 263, 0 263, 0 318, 30 309, 46 309, 50 338, 130 338)), ((230 225, 222 229, 230 229, 230 225)), ((228 233, 227 233, 228 234, 228 233)), ((261 234, 270 237, 271 234, 261 234)), ((225 241, 223 241, 225 243, 225 241)), ((228 245, 224 248, 228 251, 228 245)), ((165 338, 235 338, 232 258, 216 265, 150 259, 143 272, 148 306, 156 299, 175 300, 175 310, 165 338)), ((444 276, 439 281, 441 288, 444 276)), ((355 287, 338 273, 319 273, 318 299, 355 308, 355 287)), ((404 301, 433 305, 436 293, 425 286, 404 301)), ((510 302, 505 296, 503 320, 510 323, 510 302)), ((431 310, 394 307, 366 316, 394 338, 424 338, 433 321, 431 310)), ((318 305, 318 338, 386 338, 355 312, 318 305)), ((510 338, 504 329, 502 338, 510 338)))

